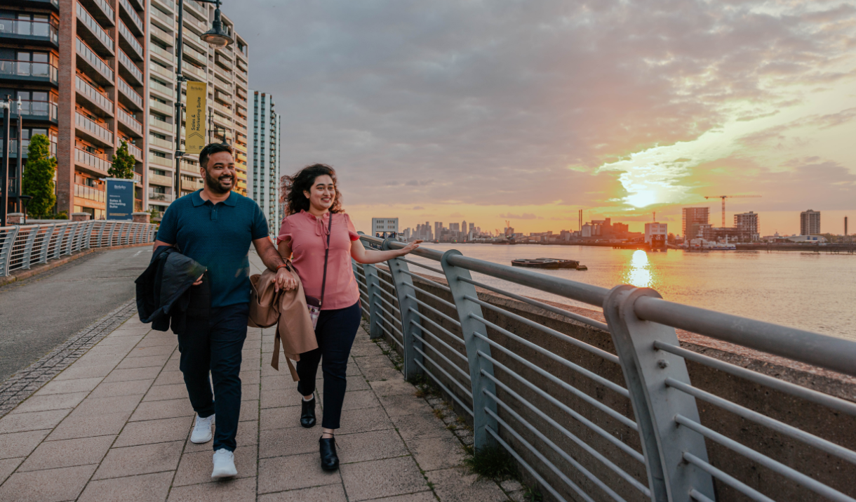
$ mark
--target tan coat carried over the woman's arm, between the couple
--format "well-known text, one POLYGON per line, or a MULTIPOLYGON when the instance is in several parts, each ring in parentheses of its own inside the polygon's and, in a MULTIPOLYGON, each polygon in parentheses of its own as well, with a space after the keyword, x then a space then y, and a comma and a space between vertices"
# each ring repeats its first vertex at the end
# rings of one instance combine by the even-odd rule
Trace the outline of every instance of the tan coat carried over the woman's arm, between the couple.
POLYGON ((294 290, 274 291, 276 273, 270 270, 250 277, 253 290, 250 295, 250 316, 247 326, 267 328, 277 325, 270 366, 279 370, 279 345, 282 343, 282 352, 285 353, 286 362, 288 362, 288 371, 296 382, 299 378, 291 362, 300 361, 300 354, 304 352, 318 349, 318 341, 315 339, 312 319, 306 308, 303 284, 300 284, 300 277, 291 262, 287 263, 288 273, 297 280, 297 288, 294 290))

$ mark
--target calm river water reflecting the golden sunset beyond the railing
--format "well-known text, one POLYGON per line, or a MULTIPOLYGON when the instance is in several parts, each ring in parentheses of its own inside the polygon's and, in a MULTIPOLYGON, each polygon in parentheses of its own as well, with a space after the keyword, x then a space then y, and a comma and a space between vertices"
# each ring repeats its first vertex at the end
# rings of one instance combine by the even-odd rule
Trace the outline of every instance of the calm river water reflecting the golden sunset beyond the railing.
MULTIPOLYGON (((795 251, 710 251, 646 253, 588 246, 495 246, 423 244, 511 265, 515 258, 579 260, 588 270, 539 271, 611 288, 633 284, 657 290, 664 299, 856 340, 856 255, 795 251)), ((430 260, 414 258, 430 263, 430 260)), ((437 263, 431 262, 437 266, 437 263)), ((415 270, 414 272, 425 272, 415 270)), ((473 274, 485 284, 555 302, 591 307, 524 286, 473 274)))

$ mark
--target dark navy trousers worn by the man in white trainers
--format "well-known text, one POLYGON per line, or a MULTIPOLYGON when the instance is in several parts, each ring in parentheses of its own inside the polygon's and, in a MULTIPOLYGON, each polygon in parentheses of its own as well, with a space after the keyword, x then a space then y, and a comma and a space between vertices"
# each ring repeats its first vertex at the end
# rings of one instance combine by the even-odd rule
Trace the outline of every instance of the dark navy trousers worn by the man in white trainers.
POLYGON ((241 413, 241 350, 247 339, 249 312, 248 303, 211 308, 206 318, 188 316, 187 330, 178 336, 181 373, 193 410, 202 418, 217 416, 214 451, 235 451, 241 413))

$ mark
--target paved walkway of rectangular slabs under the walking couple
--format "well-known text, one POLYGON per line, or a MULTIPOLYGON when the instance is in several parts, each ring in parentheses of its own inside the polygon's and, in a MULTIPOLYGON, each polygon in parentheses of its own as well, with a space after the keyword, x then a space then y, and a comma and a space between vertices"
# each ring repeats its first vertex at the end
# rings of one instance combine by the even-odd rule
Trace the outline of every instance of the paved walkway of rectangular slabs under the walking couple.
POLYGON ((211 481, 211 443, 189 441, 193 409, 175 335, 134 315, 0 418, 0 500, 522 499, 520 485, 503 483, 506 493, 461 467, 461 434, 431 404, 442 405, 416 397, 362 329, 337 433, 342 466, 325 473, 320 427, 300 427, 300 397, 284 365, 270 368, 272 350, 273 330, 250 328, 239 476, 211 481))

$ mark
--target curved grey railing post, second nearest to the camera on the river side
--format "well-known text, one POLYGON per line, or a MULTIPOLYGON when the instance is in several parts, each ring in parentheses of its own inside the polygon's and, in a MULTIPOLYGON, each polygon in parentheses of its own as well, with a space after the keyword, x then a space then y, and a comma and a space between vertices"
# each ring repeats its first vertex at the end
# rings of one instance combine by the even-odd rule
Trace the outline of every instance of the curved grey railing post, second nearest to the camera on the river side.
POLYGON ((490 426, 494 431, 499 431, 499 427, 496 427, 496 419, 485 411, 485 409, 490 409, 492 413, 496 414, 496 402, 485 396, 483 392, 489 391, 496 396, 496 385, 491 379, 483 375, 493 376, 493 363, 479 356, 479 352, 490 356, 490 345, 475 336, 477 332, 484 337, 488 336, 487 326, 473 317, 473 315, 477 315, 484 319, 481 306, 467 299, 467 296, 479 297, 476 293, 476 287, 473 284, 458 280, 459 278, 470 279, 472 276, 467 269, 449 263, 449 256, 452 255, 461 255, 461 252, 457 249, 450 249, 443 253, 441 262, 443 263, 443 272, 446 272, 449 289, 452 290, 452 297, 455 299, 455 308, 457 308, 458 318, 461 320, 464 344, 467 346, 467 361, 469 362, 470 379, 473 383, 473 447, 480 450, 496 443, 484 427, 490 426))

